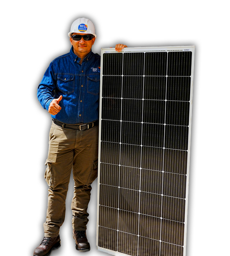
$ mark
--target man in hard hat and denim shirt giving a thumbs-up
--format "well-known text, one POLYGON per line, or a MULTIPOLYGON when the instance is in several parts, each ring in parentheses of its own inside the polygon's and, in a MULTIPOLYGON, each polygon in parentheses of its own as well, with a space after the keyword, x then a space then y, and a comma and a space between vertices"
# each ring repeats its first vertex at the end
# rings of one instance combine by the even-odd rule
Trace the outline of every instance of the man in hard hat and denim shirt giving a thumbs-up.
MULTIPOLYGON (((50 63, 39 84, 37 97, 52 116, 49 152, 44 175, 48 185, 47 219, 44 238, 34 256, 49 256, 61 246, 59 229, 65 219, 65 200, 71 172, 74 179, 72 228, 75 247, 90 251, 86 237, 91 184, 97 178, 98 107, 100 56, 91 48, 96 40, 95 27, 86 18, 73 22, 72 48, 50 63)), ((120 52, 124 44, 117 44, 120 52)))

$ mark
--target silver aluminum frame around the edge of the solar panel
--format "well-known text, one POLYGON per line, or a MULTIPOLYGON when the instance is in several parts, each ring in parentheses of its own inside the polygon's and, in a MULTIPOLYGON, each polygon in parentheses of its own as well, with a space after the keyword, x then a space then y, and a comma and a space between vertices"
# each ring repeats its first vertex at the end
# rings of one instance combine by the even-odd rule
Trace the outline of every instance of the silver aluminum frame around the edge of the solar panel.
MULTIPOLYGON (((187 233, 187 213, 188 213, 188 194, 189 194, 189 165, 190 165, 190 145, 191 145, 191 116, 192 116, 192 92, 193 92, 193 77, 194 77, 194 52, 195 47, 194 46, 175 46, 175 47, 133 47, 133 48, 124 48, 122 50, 122 54, 124 53, 132 53, 132 52, 192 52, 191 55, 191 86, 190 86, 190 99, 189 99, 189 125, 188 125, 188 148, 186 149, 188 155, 187 155, 187 166, 186 166, 186 197, 185 199, 185 219, 184 219, 184 235, 183 235, 183 254, 180 254, 180 256, 186 256, 186 233, 187 233)), ((102 48, 101 49, 101 81, 100 81, 100 107, 99 107, 99 150, 98 150, 98 205, 97 205, 97 238, 96 238, 96 246, 98 251, 103 251, 106 253, 109 253, 114 256, 124 256, 124 255, 130 255, 126 253, 122 253, 119 251, 113 251, 108 248, 103 248, 98 246, 98 240, 99 240, 99 201, 100 201, 100 185, 101 185, 101 122, 102 122, 102 84, 103 84, 103 55, 107 53, 115 53, 115 48, 102 48)), ((123 77, 123 73, 122 73, 123 77)), ((122 98, 121 98, 122 99, 122 98)), ((166 101, 166 100, 165 100, 166 101)), ((121 144, 121 143, 120 143, 121 144)), ((165 149, 165 148, 164 148, 165 149)), ((119 165, 121 166, 121 165, 119 165)), ((141 169, 141 168, 140 168, 141 169)), ((163 194, 161 195, 163 196, 163 194)), ((139 212, 140 215, 140 212, 139 212)), ((162 219, 162 218, 160 218, 162 219)), ((117 230, 118 231, 118 230, 117 230)), ((138 235, 138 239, 139 239, 138 235)), ((160 244, 162 241, 160 240, 160 244)), ((137 245, 138 248, 138 245, 137 245)), ((138 249, 137 249, 138 250, 138 249)), ((140 254, 138 254, 139 256, 140 254)), ((155 254, 154 254, 155 255, 155 254)), ((163 254, 160 253, 160 256, 163 256, 163 254)))

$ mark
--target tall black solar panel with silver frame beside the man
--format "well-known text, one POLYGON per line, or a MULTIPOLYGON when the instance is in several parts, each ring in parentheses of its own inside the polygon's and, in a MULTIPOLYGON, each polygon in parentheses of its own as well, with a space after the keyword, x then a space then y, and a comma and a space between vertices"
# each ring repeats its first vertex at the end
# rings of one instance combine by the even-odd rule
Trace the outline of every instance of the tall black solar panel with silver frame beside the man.
POLYGON ((97 246, 185 256, 194 47, 142 49, 101 51, 97 246))

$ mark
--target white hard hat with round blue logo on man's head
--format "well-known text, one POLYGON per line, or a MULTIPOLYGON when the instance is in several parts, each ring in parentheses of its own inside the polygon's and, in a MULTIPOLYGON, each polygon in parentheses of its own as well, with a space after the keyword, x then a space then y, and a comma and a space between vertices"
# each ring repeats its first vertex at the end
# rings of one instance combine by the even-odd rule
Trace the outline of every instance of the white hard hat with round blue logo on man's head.
POLYGON ((97 35, 95 34, 95 26, 88 18, 78 18, 75 20, 71 25, 68 36, 71 37, 72 33, 92 34, 97 38, 97 35))

